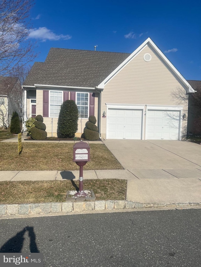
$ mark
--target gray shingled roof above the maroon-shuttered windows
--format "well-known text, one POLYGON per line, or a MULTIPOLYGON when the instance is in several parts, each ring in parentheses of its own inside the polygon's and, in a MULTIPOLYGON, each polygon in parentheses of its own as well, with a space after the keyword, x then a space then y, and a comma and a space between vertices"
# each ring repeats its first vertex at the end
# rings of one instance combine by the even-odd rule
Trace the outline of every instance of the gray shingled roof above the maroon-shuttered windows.
POLYGON ((35 62, 24 85, 95 87, 130 54, 51 48, 45 62, 35 62))

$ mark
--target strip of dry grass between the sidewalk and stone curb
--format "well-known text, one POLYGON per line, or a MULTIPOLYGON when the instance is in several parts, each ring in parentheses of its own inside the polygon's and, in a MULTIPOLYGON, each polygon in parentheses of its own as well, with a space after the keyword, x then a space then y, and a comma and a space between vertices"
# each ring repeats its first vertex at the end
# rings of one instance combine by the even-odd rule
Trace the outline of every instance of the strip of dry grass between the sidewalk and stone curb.
MULTIPOLYGON (((68 190, 79 187, 79 181, 0 182, 0 204, 64 202, 68 190)), ((96 200, 125 200, 126 180, 84 180, 83 189, 93 190, 96 200)))

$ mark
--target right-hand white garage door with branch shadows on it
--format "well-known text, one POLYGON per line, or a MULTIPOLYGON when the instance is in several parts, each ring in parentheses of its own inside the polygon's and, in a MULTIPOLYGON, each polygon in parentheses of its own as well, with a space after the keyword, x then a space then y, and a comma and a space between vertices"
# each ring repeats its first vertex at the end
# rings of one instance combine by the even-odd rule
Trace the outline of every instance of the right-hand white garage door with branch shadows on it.
POLYGON ((178 140, 179 111, 148 110, 146 139, 178 140))

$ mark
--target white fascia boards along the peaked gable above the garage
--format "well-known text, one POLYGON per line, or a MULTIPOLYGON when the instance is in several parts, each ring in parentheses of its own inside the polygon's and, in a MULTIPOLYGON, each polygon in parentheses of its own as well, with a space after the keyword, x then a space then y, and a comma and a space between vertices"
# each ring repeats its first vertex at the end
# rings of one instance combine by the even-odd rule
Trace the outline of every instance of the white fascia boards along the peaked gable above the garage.
POLYGON ((147 45, 150 45, 157 54, 166 62, 170 67, 172 72, 177 76, 177 78, 187 87, 187 93, 195 93, 193 87, 187 82, 187 80, 182 76, 182 74, 174 67, 174 65, 166 58, 166 56, 161 52, 161 50, 155 45, 151 38, 147 38, 144 43, 142 43, 132 54, 128 56, 111 74, 109 74, 105 80, 103 80, 98 86, 98 89, 104 89, 104 86, 124 67, 126 66, 133 58, 135 58, 141 50, 143 50, 147 45))

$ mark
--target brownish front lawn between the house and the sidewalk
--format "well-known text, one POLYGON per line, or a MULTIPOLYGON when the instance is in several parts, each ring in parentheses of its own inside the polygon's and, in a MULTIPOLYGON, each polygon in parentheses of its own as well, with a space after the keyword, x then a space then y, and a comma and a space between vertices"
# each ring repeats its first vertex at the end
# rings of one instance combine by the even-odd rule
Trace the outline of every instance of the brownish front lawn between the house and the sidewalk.
MULTIPOLYGON (((1 171, 79 170, 73 162, 74 143, 26 143, 18 155, 17 142, 0 143, 1 171)), ((103 144, 90 144, 90 162, 84 170, 123 169, 103 144)))

